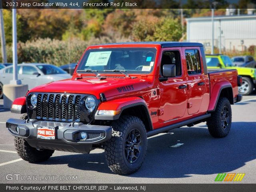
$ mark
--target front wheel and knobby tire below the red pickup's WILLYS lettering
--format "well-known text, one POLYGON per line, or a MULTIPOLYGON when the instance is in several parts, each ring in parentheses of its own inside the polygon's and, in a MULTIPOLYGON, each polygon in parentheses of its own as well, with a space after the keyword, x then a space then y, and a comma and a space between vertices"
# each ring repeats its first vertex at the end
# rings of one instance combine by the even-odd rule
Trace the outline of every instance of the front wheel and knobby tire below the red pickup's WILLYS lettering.
POLYGON ((122 116, 111 124, 114 132, 105 143, 105 157, 116 174, 132 174, 142 166, 147 150, 146 128, 135 116, 122 116))

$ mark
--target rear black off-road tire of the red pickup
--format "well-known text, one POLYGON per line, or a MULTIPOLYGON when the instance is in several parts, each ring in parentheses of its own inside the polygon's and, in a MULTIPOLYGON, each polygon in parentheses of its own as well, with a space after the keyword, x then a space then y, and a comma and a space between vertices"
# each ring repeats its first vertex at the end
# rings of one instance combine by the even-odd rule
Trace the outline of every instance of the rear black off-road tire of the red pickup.
MULTIPOLYGON (((224 121, 225 123, 225 121, 224 121)), ((212 113, 211 117, 207 120, 208 130, 211 136, 215 138, 223 138, 226 137, 230 131, 232 123, 232 111, 230 102, 226 97, 220 97, 216 106, 215 111, 212 113), (228 109, 228 125, 226 128, 222 127, 222 112, 224 108, 228 109)))

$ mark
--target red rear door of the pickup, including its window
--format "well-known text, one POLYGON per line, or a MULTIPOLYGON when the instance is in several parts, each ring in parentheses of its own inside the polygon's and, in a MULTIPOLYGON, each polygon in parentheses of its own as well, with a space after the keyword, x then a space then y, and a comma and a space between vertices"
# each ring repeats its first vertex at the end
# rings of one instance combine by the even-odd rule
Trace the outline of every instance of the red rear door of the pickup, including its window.
POLYGON ((206 84, 208 85, 208 76, 204 75, 202 70, 202 58, 199 47, 183 47, 182 51, 186 57, 186 72, 188 86, 188 114, 198 113, 206 84))

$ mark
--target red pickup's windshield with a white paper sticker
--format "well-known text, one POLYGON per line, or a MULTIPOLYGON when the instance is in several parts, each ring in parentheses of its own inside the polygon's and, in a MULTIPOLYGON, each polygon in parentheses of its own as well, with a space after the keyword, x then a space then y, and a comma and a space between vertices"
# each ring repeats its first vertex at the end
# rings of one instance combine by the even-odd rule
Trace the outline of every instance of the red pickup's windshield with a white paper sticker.
POLYGON ((86 51, 77 72, 112 73, 112 70, 121 70, 128 74, 148 74, 153 70, 155 57, 155 48, 92 49, 86 51))

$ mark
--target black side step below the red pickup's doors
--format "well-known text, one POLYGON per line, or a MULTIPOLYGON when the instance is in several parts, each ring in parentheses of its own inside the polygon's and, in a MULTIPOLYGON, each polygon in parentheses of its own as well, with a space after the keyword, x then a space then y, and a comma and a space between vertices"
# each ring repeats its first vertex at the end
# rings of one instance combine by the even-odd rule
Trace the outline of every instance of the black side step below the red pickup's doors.
POLYGON ((158 128, 158 129, 147 132, 147 137, 151 137, 153 135, 157 135, 159 133, 163 133, 163 132, 166 132, 166 131, 171 130, 171 129, 182 127, 182 126, 185 126, 187 124, 194 123, 194 122, 206 119, 210 116, 211 116, 211 114, 208 113, 208 114, 204 114, 204 115, 201 115, 201 116, 198 116, 198 117, 194 117, 192 119, 188 119, 188 120, 185 120, 185 121, 182 121, 182 122, 178 122, 178 123, 175 123, 175 124, 172 124, 172 125, 168 125, 168 126, 165 126, 165 127, 162 127, 162 128, 158 128))

